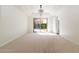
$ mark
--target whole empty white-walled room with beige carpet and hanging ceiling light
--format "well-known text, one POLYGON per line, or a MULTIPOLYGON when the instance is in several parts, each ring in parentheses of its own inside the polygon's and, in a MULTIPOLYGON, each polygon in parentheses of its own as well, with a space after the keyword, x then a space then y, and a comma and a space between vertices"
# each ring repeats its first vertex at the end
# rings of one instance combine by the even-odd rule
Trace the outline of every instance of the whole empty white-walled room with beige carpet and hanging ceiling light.
POLYGON ((79 53, 79 5, 0 5, 0 53, 79 53))

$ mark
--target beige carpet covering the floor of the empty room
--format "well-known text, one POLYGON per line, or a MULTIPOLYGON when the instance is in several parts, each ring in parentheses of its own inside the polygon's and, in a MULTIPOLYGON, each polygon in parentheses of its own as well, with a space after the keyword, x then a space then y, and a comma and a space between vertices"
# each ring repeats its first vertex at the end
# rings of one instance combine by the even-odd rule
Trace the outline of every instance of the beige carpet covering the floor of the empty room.
POLYGON ((0 52, 68 53, 79 52, 79 46, 54 34, 26 34, 5 46, 0 52))

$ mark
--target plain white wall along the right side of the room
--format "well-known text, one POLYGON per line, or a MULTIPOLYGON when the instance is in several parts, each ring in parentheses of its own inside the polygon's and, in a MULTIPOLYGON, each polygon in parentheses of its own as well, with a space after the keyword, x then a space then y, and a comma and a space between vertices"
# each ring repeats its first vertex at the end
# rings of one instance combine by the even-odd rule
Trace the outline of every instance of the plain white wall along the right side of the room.
POLYGON ((63 6, 58 17, 61 36, 79 44, 79 6, 63 6))

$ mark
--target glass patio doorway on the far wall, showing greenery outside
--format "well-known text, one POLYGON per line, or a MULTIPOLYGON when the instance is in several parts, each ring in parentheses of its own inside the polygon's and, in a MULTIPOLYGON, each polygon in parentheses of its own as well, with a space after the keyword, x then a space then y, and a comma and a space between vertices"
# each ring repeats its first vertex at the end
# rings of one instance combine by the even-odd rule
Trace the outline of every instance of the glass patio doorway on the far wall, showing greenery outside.
POLYGON ((34 18, 33 19, 33 32, 45 33, 48 32, 48 19, 47 18, 34 18))

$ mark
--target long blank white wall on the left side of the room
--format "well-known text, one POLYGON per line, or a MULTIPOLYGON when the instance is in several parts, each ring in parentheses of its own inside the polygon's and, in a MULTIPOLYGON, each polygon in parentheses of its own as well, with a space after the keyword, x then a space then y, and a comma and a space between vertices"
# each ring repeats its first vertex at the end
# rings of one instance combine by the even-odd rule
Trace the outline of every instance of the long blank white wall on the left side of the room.
POLYGON ((15 6, 0 6, 0 46, 27 31, 27 17, 15 6))

